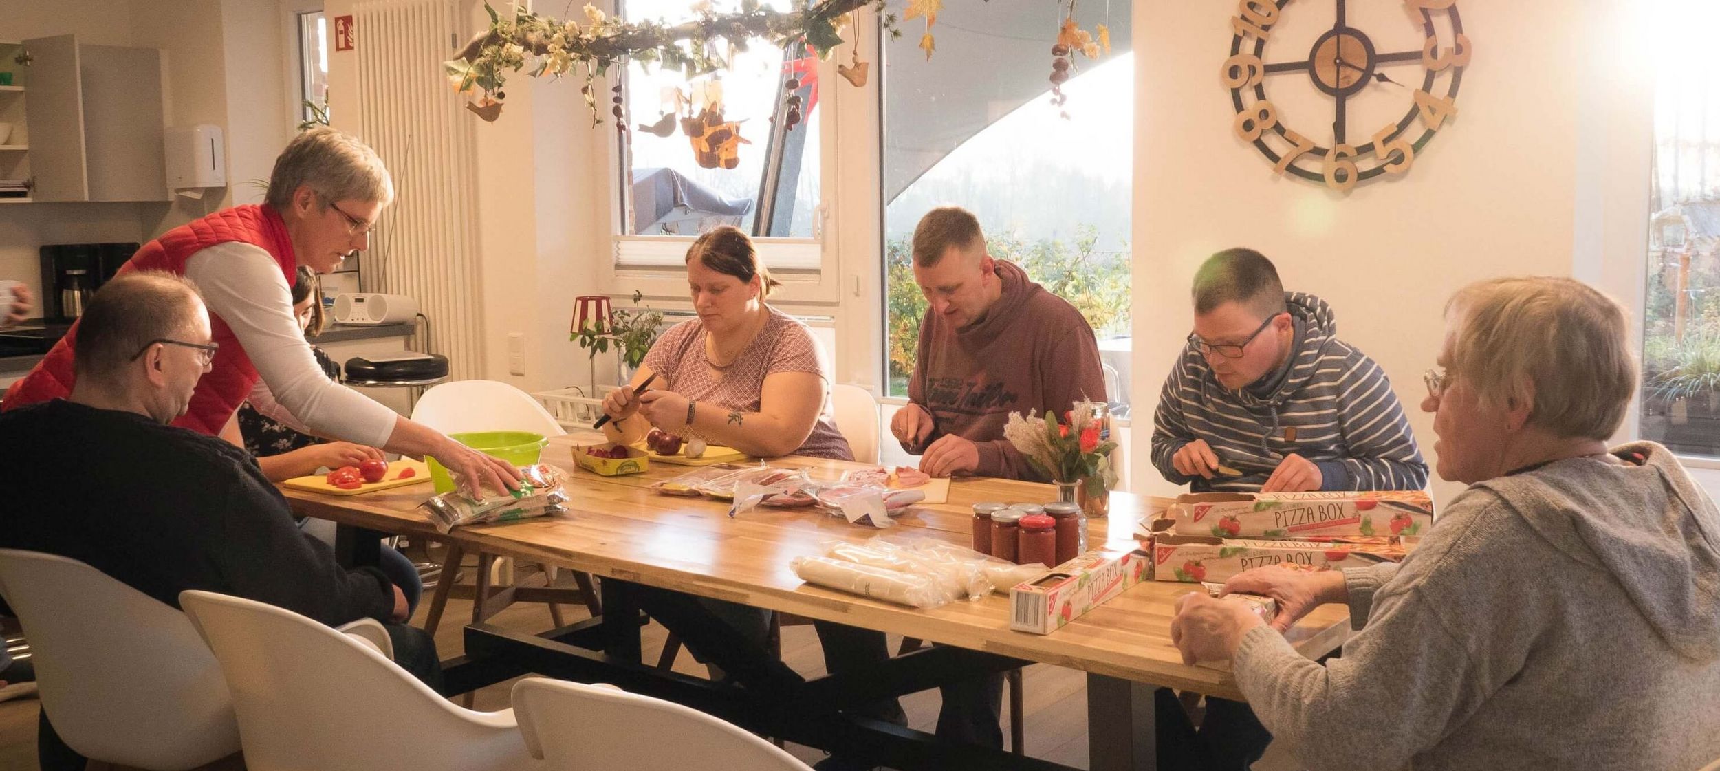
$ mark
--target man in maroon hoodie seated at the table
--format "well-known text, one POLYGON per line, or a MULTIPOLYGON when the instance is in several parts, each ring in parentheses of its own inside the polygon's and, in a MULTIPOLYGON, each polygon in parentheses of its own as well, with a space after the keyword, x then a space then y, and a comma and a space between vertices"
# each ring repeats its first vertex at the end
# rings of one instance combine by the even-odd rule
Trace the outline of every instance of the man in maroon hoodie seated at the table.
POLYGON ((994 260, 972 212, 939 207, 913 229, 913 281, 929 308, 908 379, 908 404, 889 422, 932 477, 972 473, 1046 482, 1003 439, 1010 413, 1063 415, 1104 401, 1099 344, 1087 318, 994 260))

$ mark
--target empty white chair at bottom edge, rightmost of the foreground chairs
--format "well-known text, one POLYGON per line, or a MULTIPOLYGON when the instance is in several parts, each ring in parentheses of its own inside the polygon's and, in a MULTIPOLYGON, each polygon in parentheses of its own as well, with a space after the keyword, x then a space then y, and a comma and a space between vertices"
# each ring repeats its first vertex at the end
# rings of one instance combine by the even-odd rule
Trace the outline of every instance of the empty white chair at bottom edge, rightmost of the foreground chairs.
POLYGON ((526 750, 556 769, 808 771, 731 723, 612 685, 525 678, 514 714, 526 750))

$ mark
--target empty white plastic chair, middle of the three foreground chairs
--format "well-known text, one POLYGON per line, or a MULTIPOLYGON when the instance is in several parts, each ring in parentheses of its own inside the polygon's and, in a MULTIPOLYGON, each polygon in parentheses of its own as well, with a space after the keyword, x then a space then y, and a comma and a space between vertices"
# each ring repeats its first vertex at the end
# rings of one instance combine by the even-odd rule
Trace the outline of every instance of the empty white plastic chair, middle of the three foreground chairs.
POLYGON ((538 768, 513 709, 458 707, 366 642, 241 597, 179 604, 227 676, 251 771, 538 768))

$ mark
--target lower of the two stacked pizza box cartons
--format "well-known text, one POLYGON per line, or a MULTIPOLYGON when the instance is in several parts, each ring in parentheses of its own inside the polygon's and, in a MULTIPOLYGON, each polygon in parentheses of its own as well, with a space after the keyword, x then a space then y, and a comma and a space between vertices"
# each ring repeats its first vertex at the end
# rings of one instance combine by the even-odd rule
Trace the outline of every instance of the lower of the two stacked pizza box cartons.
POLYGON ((1297 570, 1342 570, 1404 559, 1400 544, 1214 539, 1170 532, 1156 534, 1151 549, 1152 580, 1190 583, 1223 583, 1244 570, 1268 564, 1287 564, 1297 570))

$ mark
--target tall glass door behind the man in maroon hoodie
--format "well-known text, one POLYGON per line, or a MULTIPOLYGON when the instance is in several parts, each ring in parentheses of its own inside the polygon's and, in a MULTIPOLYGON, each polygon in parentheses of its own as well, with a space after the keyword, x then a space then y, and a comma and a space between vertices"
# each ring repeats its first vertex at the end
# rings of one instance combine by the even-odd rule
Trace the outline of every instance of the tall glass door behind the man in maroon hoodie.
POLYGON ((917 48, 917 21, 884 43, 884 325, 888 394, 906 396, 925 299, 910 239, 932 207, 960 205, 996 258, 1018 263, 1073 303, 1099 336, 1118 415, 1128 399, 1128 227, 1133 174, 1130 3, 1082 3, 1077 21, 1106 24, 1115 50, 1073 57, 1053 103, 1054 5, 946 0, 917 48))

